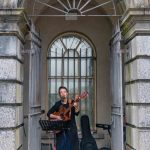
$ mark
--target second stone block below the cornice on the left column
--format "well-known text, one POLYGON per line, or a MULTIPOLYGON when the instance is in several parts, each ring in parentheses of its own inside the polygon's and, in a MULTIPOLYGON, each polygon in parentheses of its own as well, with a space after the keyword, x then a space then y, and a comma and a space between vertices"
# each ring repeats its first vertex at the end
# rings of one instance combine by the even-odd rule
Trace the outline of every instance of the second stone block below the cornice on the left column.
POLYGON ((23 81, 23 65, 15 59, 0 59, 0 79, 23 81))

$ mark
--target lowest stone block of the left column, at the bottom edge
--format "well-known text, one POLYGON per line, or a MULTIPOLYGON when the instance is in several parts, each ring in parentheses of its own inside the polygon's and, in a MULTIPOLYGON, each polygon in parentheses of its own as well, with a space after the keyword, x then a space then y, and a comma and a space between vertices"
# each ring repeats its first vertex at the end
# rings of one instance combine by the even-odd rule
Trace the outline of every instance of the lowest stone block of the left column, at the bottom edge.
POLYGON ((17 150, 23 143, 23 129, 0 131, 0 150, 17 150))

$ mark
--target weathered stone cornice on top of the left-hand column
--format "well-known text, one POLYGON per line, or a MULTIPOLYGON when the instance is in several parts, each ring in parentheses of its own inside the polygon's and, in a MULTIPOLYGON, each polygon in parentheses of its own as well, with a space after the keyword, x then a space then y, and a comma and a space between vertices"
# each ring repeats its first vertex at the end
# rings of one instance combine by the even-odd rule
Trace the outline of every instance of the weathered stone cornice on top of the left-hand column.
POLYGON ((24 42, 30 23, 24 9, 0 9, 0 34, 16 35, 24 42))

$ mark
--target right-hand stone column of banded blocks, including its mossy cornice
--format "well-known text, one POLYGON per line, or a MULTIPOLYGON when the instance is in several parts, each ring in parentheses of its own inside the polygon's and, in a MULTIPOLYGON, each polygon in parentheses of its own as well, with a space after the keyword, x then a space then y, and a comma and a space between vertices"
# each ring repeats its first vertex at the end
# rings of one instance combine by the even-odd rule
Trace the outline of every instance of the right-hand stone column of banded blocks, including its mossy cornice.
POLYGON ((126 44, 126 149, 149 150, 150 12, 146 8, 129 8, 122 19, 122 33, 126 44))

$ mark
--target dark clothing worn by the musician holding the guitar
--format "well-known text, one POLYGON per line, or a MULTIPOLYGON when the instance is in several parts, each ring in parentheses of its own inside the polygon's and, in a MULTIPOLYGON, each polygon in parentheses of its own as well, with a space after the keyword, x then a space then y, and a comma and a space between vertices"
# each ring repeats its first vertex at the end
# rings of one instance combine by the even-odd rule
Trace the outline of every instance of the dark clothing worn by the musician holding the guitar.
MULTIPOLYGON (((60 107, 69 107, 69 103, 62 104, 61 100, 57 101, 52 108, 49 109, 47 116, 50 117, 50 114, 54 112, 58 112, 60 107)), ((75 116, 78 115, 79 112, 75 112, 75 107, 71 108, 71 120, 69 121, 69 129, 62 130, 60 133, 56 134, 56 149, 57 150, 79 150, 79 140, 77 134, 77 127, 75 116), (64 137, 65 136, 65 137, 64 137), (64 138, 67 140, 65 141, 64 138), (64 145, 64 146, 63 146, 64 145), (67 148, 69 147, 69 148, 67 148)))

